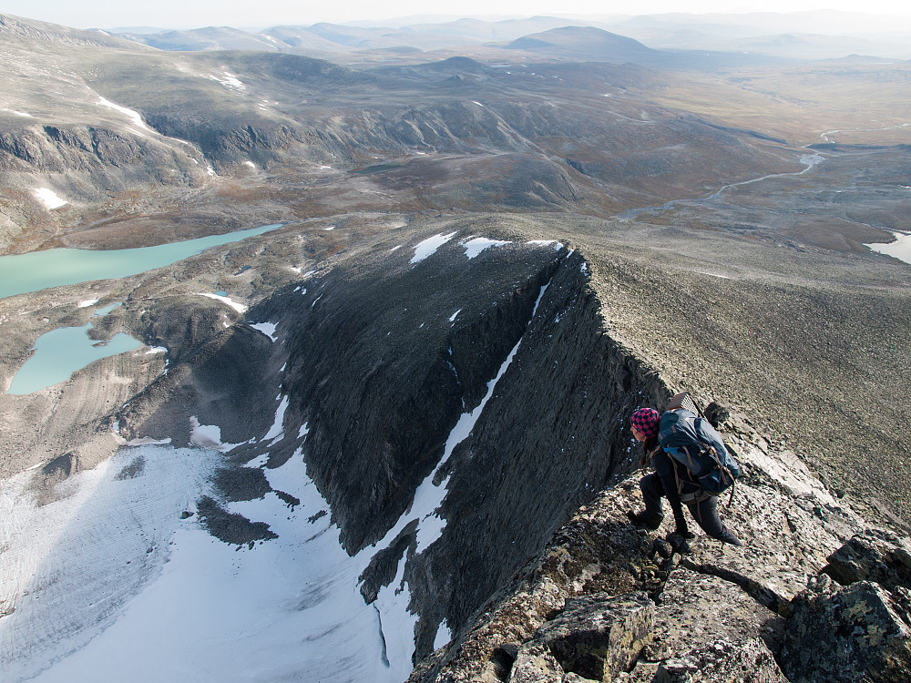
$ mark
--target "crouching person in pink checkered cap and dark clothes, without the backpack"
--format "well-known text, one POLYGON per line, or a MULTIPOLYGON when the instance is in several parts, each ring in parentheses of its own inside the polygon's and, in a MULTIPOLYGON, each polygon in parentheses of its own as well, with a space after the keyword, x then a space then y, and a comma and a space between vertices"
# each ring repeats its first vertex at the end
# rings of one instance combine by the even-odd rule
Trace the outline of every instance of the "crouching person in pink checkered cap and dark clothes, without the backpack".
POLYGON ((670 457, 661 449, 658 439, 659 423, 660 415, 652 408, 640 408, 630 417, 632 434, 636 441, 642 443, 640 464, 645 465, 651 462, 655 472, 646 474, 639 484, 642 498, 645 500, 645 510, 640 513, 628 512, 627 516, 637 525, 657 529, 664 518, 661 509, 661 496, 663 495, 667 497, 670 509, 673 511, 674 521, 677 523, 676 533, 683 539, 693 538, 694 535, 688 529, 686 518, 683 516, 681 496, 685 500, 692 494, 697 494, 692 498, 691 503, 687 503, 687 507, 690 508, 693 519, 701 526, 702 531, 722 543, 742 545, 737 536, 733 535, 718 517, 716 509, 718 496, 698 495, 701 492, 701 486, 695 475, 691 474, 686 465, 670 457))

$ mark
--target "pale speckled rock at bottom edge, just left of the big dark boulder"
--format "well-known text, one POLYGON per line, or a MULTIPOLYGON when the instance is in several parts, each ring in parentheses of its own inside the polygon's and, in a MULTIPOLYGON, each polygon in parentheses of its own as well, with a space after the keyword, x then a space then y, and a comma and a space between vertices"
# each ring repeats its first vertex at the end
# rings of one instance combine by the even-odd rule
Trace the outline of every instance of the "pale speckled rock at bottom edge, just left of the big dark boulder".
POLYGON ((658 668, 653 683, 788 683, 759 638, 713 640, 658 668))

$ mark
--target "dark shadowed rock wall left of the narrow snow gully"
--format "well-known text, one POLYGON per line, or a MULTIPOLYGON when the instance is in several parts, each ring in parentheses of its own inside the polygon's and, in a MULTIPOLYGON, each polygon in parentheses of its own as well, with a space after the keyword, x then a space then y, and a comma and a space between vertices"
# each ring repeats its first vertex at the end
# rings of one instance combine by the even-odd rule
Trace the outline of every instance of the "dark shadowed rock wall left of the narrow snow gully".
POLYGON ((258 312, 287 321, 285 422, 308 424, 308 472, 351 553, 411 505, 561 259, 499 248, 466 260, 455 242, 414 265, 411 253, 333 270, 258 312))

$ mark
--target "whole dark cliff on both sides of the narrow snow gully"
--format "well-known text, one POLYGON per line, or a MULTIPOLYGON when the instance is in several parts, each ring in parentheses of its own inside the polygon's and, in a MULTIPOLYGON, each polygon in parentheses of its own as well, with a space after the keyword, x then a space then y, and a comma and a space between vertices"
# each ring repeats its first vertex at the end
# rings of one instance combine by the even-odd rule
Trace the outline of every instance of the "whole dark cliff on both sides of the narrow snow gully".
POLYGON ((668 392, 604 333, 578 252, 501 247, 469 261, 453 240, 414 265, 403 252, 309 280, 255 317, 281 316, 285 428, 307 424, 308 472, 350 553, 406 513, 459 416, 521 340, 436 475, 436 484, 449 477, 442 537, 415 556, 403 536, 365 572, 365 595, 375 596, 408 548, 421 658, 444 620, 462 627, 579 505, 630 472, 639 450, 627 416, 668 392))

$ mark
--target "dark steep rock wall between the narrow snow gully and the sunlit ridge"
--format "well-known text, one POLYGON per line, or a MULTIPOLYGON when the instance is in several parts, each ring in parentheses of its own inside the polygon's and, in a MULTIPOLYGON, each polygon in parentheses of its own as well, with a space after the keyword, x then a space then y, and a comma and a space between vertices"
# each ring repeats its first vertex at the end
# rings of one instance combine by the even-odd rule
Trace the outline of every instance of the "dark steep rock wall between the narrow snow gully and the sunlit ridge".
POLYGON ((666 403, 663 384, 604 334, 582 257, 555 274, 471 437, 456 447, 442 538, 406 571, 422 615, 418 657, 452 630, 579 505, 638 463, 628 414, 666 403), (630 450, 631 449, 631 450, 630 450))

